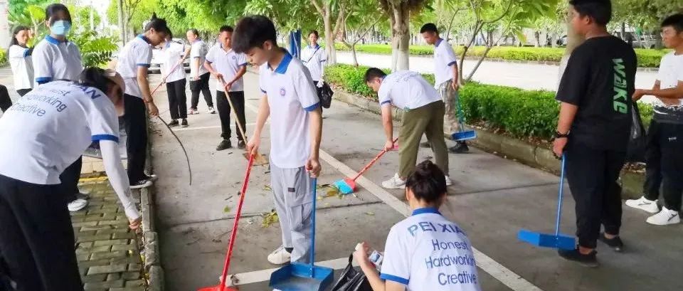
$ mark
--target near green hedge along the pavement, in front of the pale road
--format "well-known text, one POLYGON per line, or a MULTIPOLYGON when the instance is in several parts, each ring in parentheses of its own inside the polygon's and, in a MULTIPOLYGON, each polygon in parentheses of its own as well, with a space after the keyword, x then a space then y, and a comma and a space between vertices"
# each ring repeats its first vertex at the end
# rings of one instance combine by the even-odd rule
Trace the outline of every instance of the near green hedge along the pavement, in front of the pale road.
MULTIPOLYGON (((377 101, 363 79, 368 67, 330 65, 325 68, 329 83, 355 95, 377 101)), ((388 70, 385 70, 388 72, 388 70)), ((423 75, 433 83, 433 75, 423 75)), ((460 105, 465 120, 489 129, 503 129, 514 137, 550 139, 556 129, 559 104, 555 92, 467 83, 460 89, 460 105)), ((640 103, 643 122, 652 119, 652 107, 640 103)))

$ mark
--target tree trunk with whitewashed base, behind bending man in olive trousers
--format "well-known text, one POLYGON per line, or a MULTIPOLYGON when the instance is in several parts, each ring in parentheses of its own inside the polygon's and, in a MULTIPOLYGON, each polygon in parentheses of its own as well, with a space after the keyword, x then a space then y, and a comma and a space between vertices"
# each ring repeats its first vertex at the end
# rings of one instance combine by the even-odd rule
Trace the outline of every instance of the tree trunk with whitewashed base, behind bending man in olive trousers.
POLYGON ((410 68, 410 12, 407 3, 391 7, 391 71, 410 68))

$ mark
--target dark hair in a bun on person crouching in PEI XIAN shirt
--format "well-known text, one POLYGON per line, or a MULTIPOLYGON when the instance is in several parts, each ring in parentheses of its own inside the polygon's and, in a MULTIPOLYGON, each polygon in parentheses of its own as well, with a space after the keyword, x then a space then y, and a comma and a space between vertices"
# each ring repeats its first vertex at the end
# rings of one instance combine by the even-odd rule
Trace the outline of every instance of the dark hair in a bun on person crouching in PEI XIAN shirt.
POLYGON ((430 160, 415 166, 415 171, 406 180, 406 188, 413 191, 416 199, 426 203, 439 201, 448 191, 443 171, 430 160))

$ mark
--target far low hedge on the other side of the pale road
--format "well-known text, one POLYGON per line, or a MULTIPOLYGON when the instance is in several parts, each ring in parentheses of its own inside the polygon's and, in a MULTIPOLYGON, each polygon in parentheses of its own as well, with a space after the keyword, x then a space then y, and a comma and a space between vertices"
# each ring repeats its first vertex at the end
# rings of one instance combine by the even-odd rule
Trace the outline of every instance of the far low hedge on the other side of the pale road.
MULTIPOLYGON (((337 43, 337 50, 349 51, 341 43, 337 43)), ((468 56, 480 57, 484 54, 486 48, 484 46, 475 46, 467 51, 468 56)), ((367 44, 357 45, 356 51, 359 53, 374 53, 381 55, 391 55, 391 46, 382 44, 367 44)), ((411 55, 431 55, 433 54, 432 46, 411 46, 411 55)), ((455 53, 461 55, 465 51, 462 46, 455 47, 455 53)), ((662 56, 668 53, 669 50, 654 50, 636 48, 635 53, 638 56, 638 66, 641 68, 658 68, 662 56)), ((487 58, 502 59, 502 60, 528 60, 538 62, 559 62, 564 54, 564 48, 529 48, 517 46, 497 46, 491 49, 487 54, 487 58)))

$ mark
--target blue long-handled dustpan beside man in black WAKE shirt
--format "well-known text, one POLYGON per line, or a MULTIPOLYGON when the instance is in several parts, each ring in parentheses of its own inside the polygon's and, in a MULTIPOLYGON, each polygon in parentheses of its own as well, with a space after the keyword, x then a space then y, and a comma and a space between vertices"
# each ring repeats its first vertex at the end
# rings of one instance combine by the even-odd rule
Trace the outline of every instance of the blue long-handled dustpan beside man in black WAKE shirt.
POLYGON ((564 189, 564 162, 562 155, 562 169, 560 171, 560 190, 558 191, 557 201, 557 221, 555 223, 555 234, 538 233, 522 229, 517 233, 517 238, 521 241, 542 248, 558 248, 561 250, 573 250, 576 248, 576 240, 573 236, 560 233, 560 218, 562 216, 562 196, 564 189))

